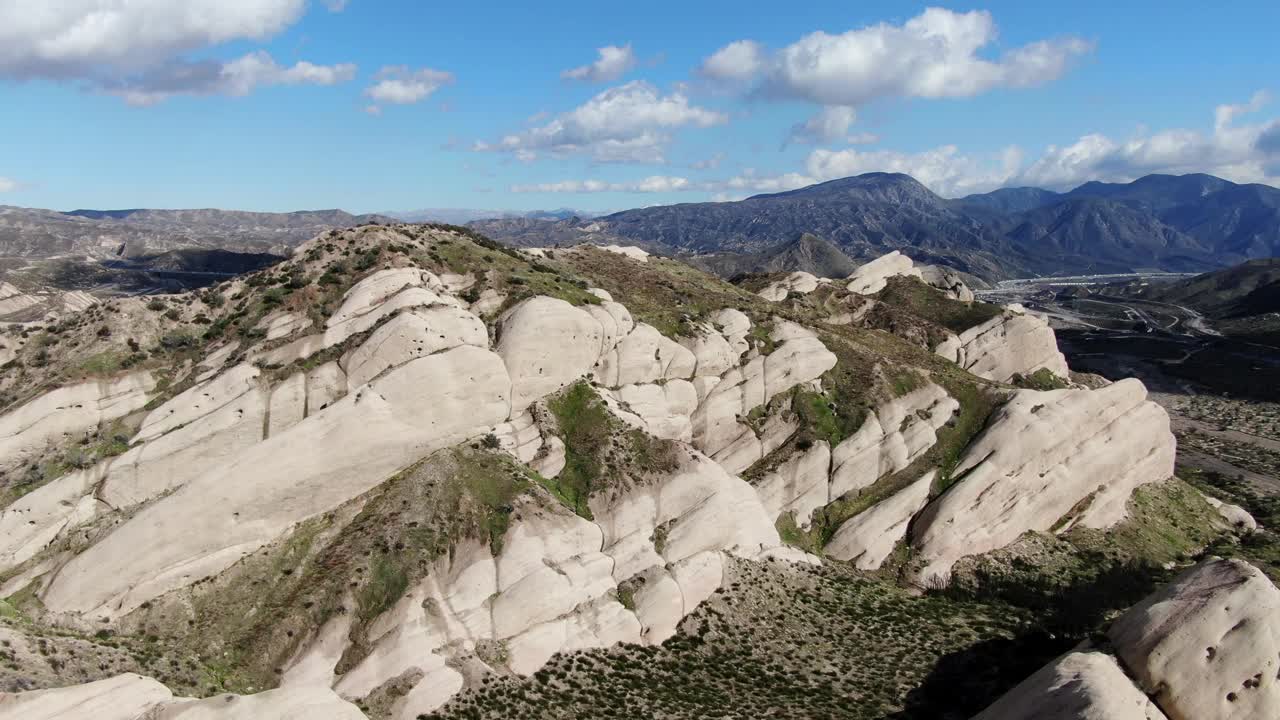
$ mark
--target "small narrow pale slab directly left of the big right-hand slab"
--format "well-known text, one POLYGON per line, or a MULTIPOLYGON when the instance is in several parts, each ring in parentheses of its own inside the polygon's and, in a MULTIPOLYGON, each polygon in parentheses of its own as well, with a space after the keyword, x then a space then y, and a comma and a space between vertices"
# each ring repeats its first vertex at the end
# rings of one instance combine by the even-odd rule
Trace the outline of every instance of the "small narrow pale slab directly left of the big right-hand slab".
POLYGON ((823 551, 836 560, 846 560, 861 570, 876 570, 906 537, 911 518, 929 501, 929 488, 936 471, 897 491, 872 507, 845 520, 823 551))

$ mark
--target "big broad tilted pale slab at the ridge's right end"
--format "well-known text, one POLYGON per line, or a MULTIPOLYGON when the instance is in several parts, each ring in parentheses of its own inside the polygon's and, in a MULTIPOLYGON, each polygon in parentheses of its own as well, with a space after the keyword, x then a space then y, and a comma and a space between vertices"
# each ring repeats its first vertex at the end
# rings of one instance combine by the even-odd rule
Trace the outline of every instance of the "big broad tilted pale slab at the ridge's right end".
POLYGON ((1100 389, 1020 391, 996 410, 955 469, 960 480, 916 519, 914 580, 945 583, 960 557, 1048 530, 1088 500, 1082 523, 1107 528, 1143 483, 1174 473, 1169 415, 1135 379, 1100 389))

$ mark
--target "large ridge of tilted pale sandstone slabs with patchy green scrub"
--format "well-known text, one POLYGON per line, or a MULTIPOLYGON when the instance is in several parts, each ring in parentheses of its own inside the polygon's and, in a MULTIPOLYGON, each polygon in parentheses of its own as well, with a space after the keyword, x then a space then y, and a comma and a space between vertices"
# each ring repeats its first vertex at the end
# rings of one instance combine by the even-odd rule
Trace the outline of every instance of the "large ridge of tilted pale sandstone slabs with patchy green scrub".
MULTIPOLYGON (((1032 530, 1107 528, 1135 487, 1172 474, 1167 418, 1135 380, 1011 395, 992 383, 1044 366, 1044 352, 992 340, 975 354, 996 369, 965 368, 910 328, 824 324, 808 304, 868 301, 833 283, 804 291, 799 278, 769 302, 625 247, 521 255, 413 227, 326 233, 300 258, 205 296, 209 327, 239 337, 206 333, 198 363, 179 355, 163 384, 142 368, 0 419, 27 468, 93 427, 131 428, 119 452, 0 512, 6 597, 70 632, 230 643, 246 682, 223 687, 280 685, 174 712, 346 698, 416 717, 557 653, 662 643, 722 589, 731 559, 870 570, 908 552, 904 578, 931 587, 952 538, 983 552, 1032 530), (268 301, 274 282, 301 286, 296 300, 268 301), (668 290, 675 305, 646 295, 668 290), (988 419, 982 393, 1011 397, 988 419), (1130 421, 1139 432, 1121 433, 1130 421), (1011 441, 1028 433, 1038 442, 1011 441), (397 497, 454 510, 356 552, 401 518, 397 497), (358 579, 334 583, 326 564, 358 579), (188 629, 205 621, 196 609, 280 568, 289 579, 269 584, 298 594, 274 621, 280 610, 261 606, 259 634, 188 629)), ((900 255, 881 265, 856 284, 887 309, 900 275, 923 273, 900 255)), ((952 284, 906 282, 972 315, 952 284)), ((1012 318, 1029 316, 995 319, 1012 318)), ((1051 331, 1036 337, 1052 345, 1051 331)), ((6 701, 123 692, 170 711, 141 680, 91 687, 6 701)))

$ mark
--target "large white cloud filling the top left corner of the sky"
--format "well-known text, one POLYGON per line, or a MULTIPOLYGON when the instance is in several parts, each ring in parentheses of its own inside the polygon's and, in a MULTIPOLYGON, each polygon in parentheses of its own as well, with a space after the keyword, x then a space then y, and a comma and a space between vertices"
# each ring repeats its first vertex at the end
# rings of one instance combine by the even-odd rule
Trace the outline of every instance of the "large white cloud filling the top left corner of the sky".
POLYGON ((264 51, 229 63, 183 58, 224 42, 265 40, 305 12, 306 0, 0 0, 0 77, 74 82, 137 105, 351 79, 351 64, 285 68, 264 51))

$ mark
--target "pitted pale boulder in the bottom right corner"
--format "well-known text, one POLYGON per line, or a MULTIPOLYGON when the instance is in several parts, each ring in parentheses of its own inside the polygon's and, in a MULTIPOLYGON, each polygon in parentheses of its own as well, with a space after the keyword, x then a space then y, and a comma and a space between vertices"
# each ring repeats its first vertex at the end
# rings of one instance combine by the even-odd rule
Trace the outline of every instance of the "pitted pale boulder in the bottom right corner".
POLYGON ((1107 637, 1170 720, 1280 717, 1280 591, 1248 562, 1201 562, 1107 637))

